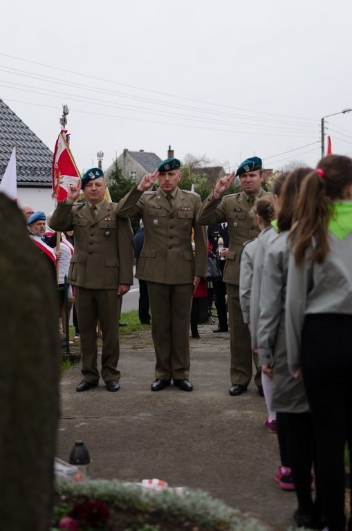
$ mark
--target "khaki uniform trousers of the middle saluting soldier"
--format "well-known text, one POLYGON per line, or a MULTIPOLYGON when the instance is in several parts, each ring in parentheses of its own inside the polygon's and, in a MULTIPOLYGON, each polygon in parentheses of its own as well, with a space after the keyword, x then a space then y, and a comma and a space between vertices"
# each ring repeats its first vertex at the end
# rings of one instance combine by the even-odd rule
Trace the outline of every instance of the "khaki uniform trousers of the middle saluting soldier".
POLYGON ((156 379, 187 380, 193 284, 148 281, 156 379))

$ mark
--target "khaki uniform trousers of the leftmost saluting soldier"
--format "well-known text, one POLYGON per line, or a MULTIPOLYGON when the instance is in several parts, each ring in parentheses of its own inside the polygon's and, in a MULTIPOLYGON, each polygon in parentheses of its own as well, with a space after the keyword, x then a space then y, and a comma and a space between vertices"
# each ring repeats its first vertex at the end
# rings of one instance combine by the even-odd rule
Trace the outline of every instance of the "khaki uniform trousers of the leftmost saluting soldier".
POLYGON ((118 359, 120 345, 118 337, 118 319, 121 297, 118 288, 113 290, 88 290, 75 286, 75 304, 82 353, 82 375, 84 380, 98 384, 98 320, 102 330, 102 379, 120 380, 118 359))

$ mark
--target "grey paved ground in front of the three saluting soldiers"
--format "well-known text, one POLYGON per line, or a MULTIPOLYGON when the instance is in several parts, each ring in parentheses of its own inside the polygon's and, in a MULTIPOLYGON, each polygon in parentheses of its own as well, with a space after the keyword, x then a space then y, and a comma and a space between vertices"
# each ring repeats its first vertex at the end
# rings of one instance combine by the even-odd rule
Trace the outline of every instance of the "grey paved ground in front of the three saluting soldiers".
POLYGON ((280 490, 277 437, 263 427, 266 406, 251 382, 238 397, 230 387, 229 334, 214 324, 190 339, 189 380, 194 391, 169 386, 151 392, 154 348, 149 330, 122 336, 120 391, 103 382, 77 393, 80 364, 62 374, 57 456, 68 460, 75 440, 91 455, 91 477, 200 488, 245 512, 287 528, 293 525, 294 492, 280 490))

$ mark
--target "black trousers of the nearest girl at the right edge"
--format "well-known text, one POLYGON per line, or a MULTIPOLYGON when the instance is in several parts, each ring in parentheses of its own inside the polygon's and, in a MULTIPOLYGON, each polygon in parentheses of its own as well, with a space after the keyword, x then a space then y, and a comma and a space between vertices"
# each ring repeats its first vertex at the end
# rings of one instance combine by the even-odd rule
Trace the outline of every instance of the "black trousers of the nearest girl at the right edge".
MULTIPOLYGON (((352 455, 352 315, 306 315, 301 366, 329 531, 344 531, 344 447, 352 455)), ((352 460, 350 460, 350 472, 352 460)))

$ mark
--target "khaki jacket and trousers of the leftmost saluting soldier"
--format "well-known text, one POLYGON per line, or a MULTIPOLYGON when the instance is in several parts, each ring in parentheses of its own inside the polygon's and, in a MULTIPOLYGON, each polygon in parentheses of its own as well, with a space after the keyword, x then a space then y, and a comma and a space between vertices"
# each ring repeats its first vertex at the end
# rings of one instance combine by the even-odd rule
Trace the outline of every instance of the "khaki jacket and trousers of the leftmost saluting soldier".
POLYGON ((50 226, 74 231, 75 251, 68 282, 75 286, 80 327, 82 375, 98 383, 97 324, 102 329, 102 379, 119 380, 119 284, 133 283, 133 232, 129 220, 115 216, 114 203, 104 201, 93 217, 87 203, 59 203, 50 226))

